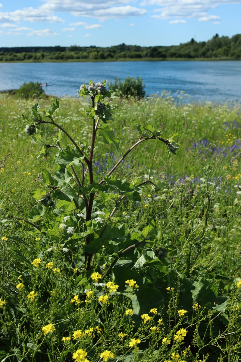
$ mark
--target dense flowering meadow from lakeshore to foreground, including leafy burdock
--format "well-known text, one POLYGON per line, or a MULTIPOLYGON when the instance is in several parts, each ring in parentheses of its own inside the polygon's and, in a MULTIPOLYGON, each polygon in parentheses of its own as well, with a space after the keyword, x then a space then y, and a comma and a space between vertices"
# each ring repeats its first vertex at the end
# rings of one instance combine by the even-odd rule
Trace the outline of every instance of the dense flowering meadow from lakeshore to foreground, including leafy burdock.
POLYGON ((240 105, 35 97, 0 94, 0 360, 240 361, 240 105))

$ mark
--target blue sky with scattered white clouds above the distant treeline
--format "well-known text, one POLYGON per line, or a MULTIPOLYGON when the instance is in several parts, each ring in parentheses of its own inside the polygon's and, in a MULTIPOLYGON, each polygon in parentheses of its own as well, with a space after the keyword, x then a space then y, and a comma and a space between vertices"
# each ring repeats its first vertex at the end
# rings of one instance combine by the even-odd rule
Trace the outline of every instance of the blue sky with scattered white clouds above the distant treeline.
POLYGON ((241 33, 241 0, 0 0, 0 47, 177 45, 241 33))

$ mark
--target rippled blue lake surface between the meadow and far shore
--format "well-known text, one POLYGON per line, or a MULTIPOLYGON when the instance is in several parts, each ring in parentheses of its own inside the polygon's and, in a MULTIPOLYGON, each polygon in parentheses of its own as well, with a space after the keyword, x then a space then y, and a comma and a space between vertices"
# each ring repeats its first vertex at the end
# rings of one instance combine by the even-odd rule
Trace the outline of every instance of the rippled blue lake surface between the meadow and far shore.
POLYGON ((48 83, 47 94, 76 95, 90 78, 95 81, 141 76, 146 94, 173 95, 183 90, 190 100, 240 101, 241 61, 0 63, 0 90, 19 88, 23 82, 48 83))

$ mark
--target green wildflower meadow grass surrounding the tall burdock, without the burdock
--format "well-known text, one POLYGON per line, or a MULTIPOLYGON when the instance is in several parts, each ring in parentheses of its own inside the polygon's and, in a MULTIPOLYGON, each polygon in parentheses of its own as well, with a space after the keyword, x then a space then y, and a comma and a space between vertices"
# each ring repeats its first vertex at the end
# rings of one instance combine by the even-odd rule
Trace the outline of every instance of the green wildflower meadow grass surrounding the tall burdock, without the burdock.
MULTIPOLYGON (((47 157, 36 159, 39 145, 31 144, 30 138, 22 132, 25 123, 21 113, 29 114, 36 101, 41 109, 50 104, 49 100, 26 101, 0 94, 1 220, 9 216, 27 219, 28 211, 36 203, 30 191, 41 184, 42 169, 54 172, 56 168, 53 150, 47 157)), ((92 125, 85 116, 87 102, 80 98, 59 101, 55 121, 62 124, 77 143, 89 144, 92 125)), ((115 214, 117 225, 125 223, 129 231, 146 226, 147 218, 151 216, 158 230, 157 246, 169 250, 169 282, 163 288, 167 303, 158 312, 149 313, 153 319, 143 317, 142 322, 146 323, 135 319, 131 312, 126 313, 132 309, 129 299, 124 298, 119 303, 120 297, 115 293, 112 293, 111 314, 107 303, 98 309, 96 299, 90 298, 90 303, 78 302, 78 299, 70 303, 78 289, 76 275, 50 272, 48 267, 41 269, 40 265, 33 268, 27 261, 43 253, 40 234, 16 219, 12 224, 0 223, 2 361, 240 360, 240 111, 236 104, 189 104, 183 103, 181 98, 176 102, 168 93, 139 101, 130 98, 119 101, 119 111, 111 122, 121 139, 119 151, 103 144, 102 138, 96 138, 94 172, 101 179, 115 160, 138 140, 131 125, 132 118, 142 125, 152 123, 160 127, 165 139, 178 131, 176 142, 182 148, 175 157, 168 160, 160 142, 145 142, 126 157, 117 171, 117 176, 127 180, 133 175, 144 180, 150 169, 155 178, 168 184, 160 191, 147 186, 141 202, 126 200, 115 214), (10 235, 27 243, 18 243, 16 239, 21 256, 16 248, 13 251, 9 246, 9 240, 4 239, 10 235), (172 278, 174 271, 180 278, 185 276, 194 282, 205 278, 211 285, 207 294, 226 298, 227 310, 226 307, 219 310, 214 303, 206 305, 203 302, 197 306, 193 303, 184 308, 192 311, 189 321, 185 314, 179 316, 178 301, 184 286, 181 279, 172 278), (20 277, 21 274, 24 276, 20 277), (27 285, 27 278, 31 279, 31 290, 36 290, 35 286, 41 280, 42 296, 38 292, 31 299, 27 296, 30 289, 16 289, 19 283, 27 285), (50 285, 54 285, 53 290, 50 285), (50 304, 46 309, 47 292, 50 304), (16 308, 8 310, 8 303, 15 303, 16 308), (155 317, 156 313, 158 317, 155 317), (219 318, 215 319, 216 316, 219 318), (162 318, 164 325, 160 321, 162 318), (44 326, 48 327, 42 330, 44 326), (180 328, 188 334, 183 332, 183 338, 181 335, 175 340, 180 328), (78 332, 80 330, 82 332, 78 332), (75 332, 82 333, 81 337, 75 338, 75 332), (72 339, 66 340, 66 337, 72 339), (82 349, 87 351, 86 355, 85 352, 74 354, 82 349)), ((50 127, 43 127, 41 132, 49 143, 57 134, 57 130, 50 127)), ((67 143, 63 139, 63 146, 67 143)), ((47 249, 48 245, 44 247, 47 249)), ((60 270, 64 269, 60 246, 56 245, 51 253, 51 262, 60 270)), ((134 294, 134 288, 129 293, 134 294)))

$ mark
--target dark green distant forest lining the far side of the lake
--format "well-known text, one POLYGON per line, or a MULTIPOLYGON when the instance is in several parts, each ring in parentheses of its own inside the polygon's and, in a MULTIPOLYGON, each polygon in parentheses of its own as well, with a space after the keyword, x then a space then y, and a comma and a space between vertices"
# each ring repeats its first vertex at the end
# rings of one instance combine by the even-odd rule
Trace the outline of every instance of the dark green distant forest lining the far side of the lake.
POLYGON ((54 62, 98 60, 241 59, 241 34, 232 38, 214 35, 207 42, 141 47, 120 44, 110 47, 13 47, 0 48, 0 62, 54 62))

